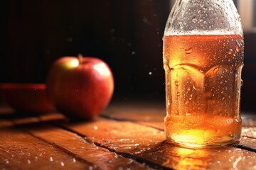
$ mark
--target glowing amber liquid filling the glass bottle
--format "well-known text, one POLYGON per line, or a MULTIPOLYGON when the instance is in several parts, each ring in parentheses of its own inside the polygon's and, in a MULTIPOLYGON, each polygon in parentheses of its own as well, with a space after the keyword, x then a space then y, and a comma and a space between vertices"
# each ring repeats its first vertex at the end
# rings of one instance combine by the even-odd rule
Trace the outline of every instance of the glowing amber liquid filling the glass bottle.
POLYGON ((165 36, 167 140, 191 147, 239 142, 242 66, 240 35, 165 36))

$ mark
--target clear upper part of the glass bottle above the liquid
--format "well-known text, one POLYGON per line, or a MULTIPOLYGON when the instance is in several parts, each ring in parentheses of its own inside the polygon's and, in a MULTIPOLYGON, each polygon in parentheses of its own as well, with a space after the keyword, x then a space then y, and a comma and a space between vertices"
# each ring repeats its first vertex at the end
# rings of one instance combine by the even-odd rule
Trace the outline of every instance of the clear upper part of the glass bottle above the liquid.
POLYGON ((177 0, 164 35, 242 35, 240 16, 232 0, 177 0))

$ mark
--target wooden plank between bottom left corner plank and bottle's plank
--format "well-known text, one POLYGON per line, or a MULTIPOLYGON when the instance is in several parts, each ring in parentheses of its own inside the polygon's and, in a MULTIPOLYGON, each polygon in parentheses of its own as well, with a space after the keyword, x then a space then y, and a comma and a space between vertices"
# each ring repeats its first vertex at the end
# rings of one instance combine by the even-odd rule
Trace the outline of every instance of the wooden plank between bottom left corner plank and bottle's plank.
POLYGON ((120 157, 108 149, 98 147, 95 144, 86 142, 86 140, 73 132, 57 128, 53 125, 39 124, 26 131, 42 140, 56 145, 66 152, 94 164, 94 167, 100 169, 150 169, 144 164, 139 164, 133 159, 120 157))

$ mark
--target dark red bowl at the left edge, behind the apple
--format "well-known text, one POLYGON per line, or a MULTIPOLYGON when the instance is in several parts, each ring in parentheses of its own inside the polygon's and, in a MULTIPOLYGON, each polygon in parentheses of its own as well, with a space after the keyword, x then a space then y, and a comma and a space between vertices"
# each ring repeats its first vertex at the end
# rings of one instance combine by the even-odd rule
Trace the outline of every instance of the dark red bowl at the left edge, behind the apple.
POLYGON ((46 96, 46 84, 0 84, 4 102, 16 111, 44 113, 55 108, 46 96))

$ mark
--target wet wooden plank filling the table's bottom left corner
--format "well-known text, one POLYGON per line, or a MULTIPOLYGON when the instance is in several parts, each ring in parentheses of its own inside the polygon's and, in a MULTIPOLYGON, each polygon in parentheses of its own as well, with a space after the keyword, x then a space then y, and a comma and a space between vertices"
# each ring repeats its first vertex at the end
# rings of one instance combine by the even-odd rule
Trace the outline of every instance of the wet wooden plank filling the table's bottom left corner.
POLYGON ((1 128, 0 137, 0 169, 89 169, 92 166, 22 130, 1 128))

